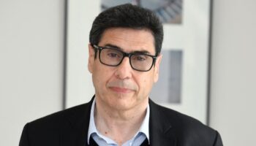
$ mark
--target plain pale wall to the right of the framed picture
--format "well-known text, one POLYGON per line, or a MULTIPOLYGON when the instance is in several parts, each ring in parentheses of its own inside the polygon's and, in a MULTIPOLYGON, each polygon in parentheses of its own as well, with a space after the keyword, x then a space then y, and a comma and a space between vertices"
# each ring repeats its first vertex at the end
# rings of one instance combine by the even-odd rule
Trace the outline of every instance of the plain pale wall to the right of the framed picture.
POLYGON ((214 0, 210 125, 225 146, 255 145, 255 6, 255 0, 214 0))

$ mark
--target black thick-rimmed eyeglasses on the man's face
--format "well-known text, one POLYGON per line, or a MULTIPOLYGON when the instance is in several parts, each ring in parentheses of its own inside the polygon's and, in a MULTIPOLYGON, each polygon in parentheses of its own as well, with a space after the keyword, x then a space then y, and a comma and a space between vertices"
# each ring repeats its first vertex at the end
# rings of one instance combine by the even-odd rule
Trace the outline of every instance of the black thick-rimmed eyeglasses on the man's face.
POLYGON ((125 53, 113 47, 91 46, 94 47, 95 53, 99 50, 99 61, 107 66, 118 66, 124 60, 124 57, 128 57, 132 69, 147 72, 152 68, 157 59, 157 56, 145 53, 125 53))

